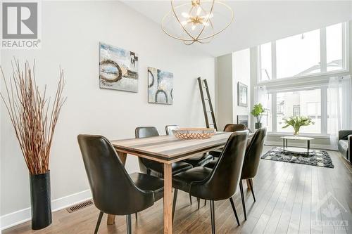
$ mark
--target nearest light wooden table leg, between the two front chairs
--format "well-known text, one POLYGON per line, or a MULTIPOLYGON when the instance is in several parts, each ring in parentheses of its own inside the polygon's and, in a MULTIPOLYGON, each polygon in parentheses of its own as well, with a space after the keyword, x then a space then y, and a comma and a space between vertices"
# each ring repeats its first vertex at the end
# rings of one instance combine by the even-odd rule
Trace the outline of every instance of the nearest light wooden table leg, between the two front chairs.
POLYGON ((164 164, 164 234, 172 234, 172 169, 164 164))

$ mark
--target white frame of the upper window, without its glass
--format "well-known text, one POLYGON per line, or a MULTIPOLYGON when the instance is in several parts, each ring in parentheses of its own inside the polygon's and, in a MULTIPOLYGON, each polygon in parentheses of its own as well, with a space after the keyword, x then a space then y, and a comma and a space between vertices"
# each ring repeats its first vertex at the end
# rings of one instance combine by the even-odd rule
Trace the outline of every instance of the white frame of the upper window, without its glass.
POLYGON ((314 74, 301 74, 299 76, 294 77, 282 77, 277 79, 277 61, 276 61, 276 41, 271 42, 271 65, 272 65, 272 74, 271 80, 262 81, 261 80, 261 49, 260 45, 257 46, 257 54, 258 54, 258 76, 257 76, 257 84, 270 84, 275 82, 282 82, 287 79, 302 79, 306 77, 322 77, 326 75, 339 74, 341 72, 349 72, 349 53, 348 53, 348 41, 349 41, 349 33, 348 33, 348 22, 342 23, 342 62, 344 68, 342 70, 334 70, 327 72, 327 37, 326 37, 326 27, 320 29, 320 72, 314 74))

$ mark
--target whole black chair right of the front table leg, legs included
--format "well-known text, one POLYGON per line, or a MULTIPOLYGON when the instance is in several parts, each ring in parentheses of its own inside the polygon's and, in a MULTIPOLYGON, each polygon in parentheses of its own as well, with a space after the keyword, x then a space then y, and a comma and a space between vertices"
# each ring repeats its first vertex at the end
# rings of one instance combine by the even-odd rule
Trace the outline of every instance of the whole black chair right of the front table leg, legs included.
POLYGON ((236 208, 232 196, 236 192, 244 162, 248 131, 234 132, 227 140, 224 150, 214 169, 194 167, 172 177, 172 186, 175 188, 172 219, 175 216, 177 190, 183 190, 194 197, 210 200, 211 230, 215 233, 214 201, 230 199, 234 216, 239 225, 236 208))

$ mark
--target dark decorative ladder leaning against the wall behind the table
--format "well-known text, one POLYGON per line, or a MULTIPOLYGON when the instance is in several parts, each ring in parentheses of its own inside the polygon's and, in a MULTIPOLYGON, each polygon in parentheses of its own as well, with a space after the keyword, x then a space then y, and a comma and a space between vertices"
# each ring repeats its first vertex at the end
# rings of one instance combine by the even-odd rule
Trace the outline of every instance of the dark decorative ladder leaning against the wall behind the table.
POLYGON ((216 129, 216 131, 218 131, 218 127, 216 126, 216 122, 215 122, 213 105, 210 100, 208 83, 206 82, 206 79, 202 80, 201 77, 198 77, 198 84, 199 84, 199 90, 201 91, 201 103, 203 104, 204 117, 206 118, 206 127, 210 128, 210 126, 212 126, 213 129, 216 129), (204 97, 203 89, 206 90, 206 98, 204 97), (206 101, 208 101, 209 110, 206 107, 206 101), (211 114, 211 119, 212 119, 211 123, 209 123, 208 113, 211 114))

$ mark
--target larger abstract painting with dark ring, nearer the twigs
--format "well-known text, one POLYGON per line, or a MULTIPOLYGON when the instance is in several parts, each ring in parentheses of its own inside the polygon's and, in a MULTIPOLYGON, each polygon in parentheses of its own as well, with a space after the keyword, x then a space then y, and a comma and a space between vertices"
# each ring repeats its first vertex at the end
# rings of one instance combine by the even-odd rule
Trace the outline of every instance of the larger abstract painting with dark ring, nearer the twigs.
POLYGON ((99 44, 99 86, 138 92, 138 55, 108 44, 99 44))

